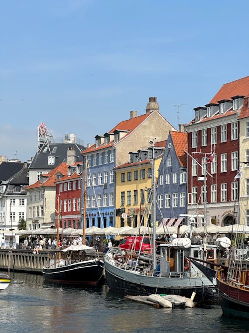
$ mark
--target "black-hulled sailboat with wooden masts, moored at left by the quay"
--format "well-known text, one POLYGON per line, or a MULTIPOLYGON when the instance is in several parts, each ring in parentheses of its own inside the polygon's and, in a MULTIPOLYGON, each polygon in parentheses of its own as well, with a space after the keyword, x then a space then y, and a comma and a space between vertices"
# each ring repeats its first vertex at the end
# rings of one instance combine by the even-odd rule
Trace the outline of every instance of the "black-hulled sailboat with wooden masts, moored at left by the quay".
MULTIPOLYGON (((72 285, 100 284, 104 279, 104 262, 95 256, 95 248, 85 244, 86 239, 86 196, 87 196, 87 158, 85 164, 83 241, 82 245, 71 245, 59 252, 59 258, 50 258, 48 266, 43 267, 45 280, 72 285), (93 258, 94 257, 94 258, 93 258)), ((59 212, 59 209, 58 209, 59 212)), ((59 214, 58 214, 59 216, 59 214)), ((57 240, 59 239, 59 221, 57 240)), ((58 248, 58 243, 57 243, 58 248)))

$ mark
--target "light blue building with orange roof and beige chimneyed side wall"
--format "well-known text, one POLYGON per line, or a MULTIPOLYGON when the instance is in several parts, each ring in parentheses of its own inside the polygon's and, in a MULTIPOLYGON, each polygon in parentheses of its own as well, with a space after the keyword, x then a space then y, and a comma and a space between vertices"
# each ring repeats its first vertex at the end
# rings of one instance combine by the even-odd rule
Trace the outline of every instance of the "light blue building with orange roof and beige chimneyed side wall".
MULTIPOLYGON (((114 168, 126 162, 131 151, 146 147, 151 139, 165 140, 172 125, 159 113, 156 97, 150 97, 146 113, 121 121, 103 136, 95 137, 95 144, 82 152, 88 158, 86 226, 115 226, 114 168)), ((83 175, 84 183, 84 175, 83 175)), ((82 212, 83 214, 83 212, 82 212)))

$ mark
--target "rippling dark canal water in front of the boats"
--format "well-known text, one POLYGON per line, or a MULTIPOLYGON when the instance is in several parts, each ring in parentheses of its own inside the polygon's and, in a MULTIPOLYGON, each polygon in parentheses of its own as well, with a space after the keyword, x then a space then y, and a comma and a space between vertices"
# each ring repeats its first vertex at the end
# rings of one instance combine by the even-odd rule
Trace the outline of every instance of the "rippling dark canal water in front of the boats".
POLYGON ((248 332, 247 322, 226 318, 218 305, 155 309, 98 288, 48 284, 41 275, 10 272, 0 292, 0 333, 248 332))

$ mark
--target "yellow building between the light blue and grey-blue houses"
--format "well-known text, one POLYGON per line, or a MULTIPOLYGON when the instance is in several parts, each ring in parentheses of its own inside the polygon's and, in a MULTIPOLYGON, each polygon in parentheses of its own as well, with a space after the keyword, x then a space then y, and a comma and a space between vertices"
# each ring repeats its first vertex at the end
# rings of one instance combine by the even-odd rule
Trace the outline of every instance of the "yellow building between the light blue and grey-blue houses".
MULTIPOLYGON (((157 142, 155 149, 155 176, 162 159, 166 141, 157 142), (159 147, 160 146, 160 147, 159 147)), ((151 150, 152 151, 152 150, 151 150)), ((117 166, 116 172, 116 228, 150 226, 152 201, 152 160, 146 151, 130 152, 130 160, 117 166)))

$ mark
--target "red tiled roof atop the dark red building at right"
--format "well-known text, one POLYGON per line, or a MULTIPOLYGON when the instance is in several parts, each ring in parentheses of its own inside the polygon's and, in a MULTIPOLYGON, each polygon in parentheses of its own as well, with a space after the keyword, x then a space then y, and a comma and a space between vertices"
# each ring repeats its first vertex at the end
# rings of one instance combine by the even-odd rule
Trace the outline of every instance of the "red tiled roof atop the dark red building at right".
POLYGON ((223 84, 217 94, 211 99, 209 104, 218 103, 223 99, 230 99, 233 96, 248 96, 249 95, 249 76, 243 77, 236 81, 223 84))

